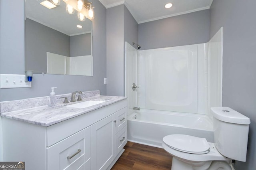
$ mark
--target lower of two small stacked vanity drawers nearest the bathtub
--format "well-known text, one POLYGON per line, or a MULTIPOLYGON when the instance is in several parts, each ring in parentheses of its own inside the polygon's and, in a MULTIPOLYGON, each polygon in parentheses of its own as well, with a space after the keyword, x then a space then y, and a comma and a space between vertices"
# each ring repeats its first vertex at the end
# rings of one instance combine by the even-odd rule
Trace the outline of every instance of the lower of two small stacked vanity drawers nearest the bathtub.
POLYGON ((116 154, 118 154, 127 143, 127 126, 116 134, 116 154))

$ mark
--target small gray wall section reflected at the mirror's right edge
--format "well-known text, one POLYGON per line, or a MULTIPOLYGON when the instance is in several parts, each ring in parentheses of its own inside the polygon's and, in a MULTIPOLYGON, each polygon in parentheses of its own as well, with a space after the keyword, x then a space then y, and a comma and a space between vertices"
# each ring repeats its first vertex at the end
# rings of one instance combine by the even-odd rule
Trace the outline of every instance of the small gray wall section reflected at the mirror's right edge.
POLYGON ((70 37, 70 57, 91 55, 91 34, 70 37))

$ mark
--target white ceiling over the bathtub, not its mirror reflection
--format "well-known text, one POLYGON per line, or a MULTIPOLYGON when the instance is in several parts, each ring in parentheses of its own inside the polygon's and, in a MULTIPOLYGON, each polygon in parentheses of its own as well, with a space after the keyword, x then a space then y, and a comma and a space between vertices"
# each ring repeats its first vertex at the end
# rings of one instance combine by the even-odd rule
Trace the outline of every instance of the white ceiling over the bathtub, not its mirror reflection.
POLYGON ((213 0, 99 0, 106 8, 125 4, 134 19, 140 23, 209 9, 213 0), (172 3, 172 8, 164 5, 172 3))

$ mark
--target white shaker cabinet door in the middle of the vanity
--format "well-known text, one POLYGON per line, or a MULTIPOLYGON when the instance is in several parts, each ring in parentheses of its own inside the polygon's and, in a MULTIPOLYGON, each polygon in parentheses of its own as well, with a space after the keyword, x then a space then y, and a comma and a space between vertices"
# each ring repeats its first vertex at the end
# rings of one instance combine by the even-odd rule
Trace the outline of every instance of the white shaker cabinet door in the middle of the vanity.
POLYGON ((116 157, 115 115, 110 115, 91 126, 92 170, 106 170, 116 157))

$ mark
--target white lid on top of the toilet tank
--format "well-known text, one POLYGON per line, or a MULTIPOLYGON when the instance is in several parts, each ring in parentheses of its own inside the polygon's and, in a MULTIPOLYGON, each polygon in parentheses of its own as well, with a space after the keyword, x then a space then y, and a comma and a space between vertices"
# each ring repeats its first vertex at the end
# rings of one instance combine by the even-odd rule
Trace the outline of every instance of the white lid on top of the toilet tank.
POLYGON ((212 115, 216 119, 242 125, 249 125, 250 119, 229 107, 211 107, 212 115))

